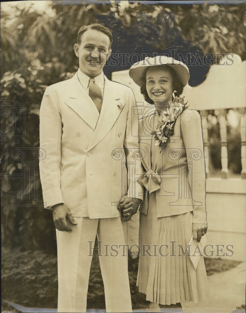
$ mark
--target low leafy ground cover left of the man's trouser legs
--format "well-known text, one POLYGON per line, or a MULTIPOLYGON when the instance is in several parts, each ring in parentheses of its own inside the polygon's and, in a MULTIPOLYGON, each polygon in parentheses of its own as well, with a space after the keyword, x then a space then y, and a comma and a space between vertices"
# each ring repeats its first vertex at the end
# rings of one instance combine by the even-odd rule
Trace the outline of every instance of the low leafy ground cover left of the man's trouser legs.
POLYGON ((42 251, 2 254, 2 299, 34 307, 57 306, 57 258, 42 251))

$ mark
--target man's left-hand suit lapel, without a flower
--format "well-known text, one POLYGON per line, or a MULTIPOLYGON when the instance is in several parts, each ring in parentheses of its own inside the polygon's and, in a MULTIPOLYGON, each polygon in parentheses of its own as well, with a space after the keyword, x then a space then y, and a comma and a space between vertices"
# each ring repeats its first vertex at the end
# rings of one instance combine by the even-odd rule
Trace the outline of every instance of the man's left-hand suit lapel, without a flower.
POLYGON ((95 130, 99 112, 91 97, 81 86, 77 74, 71 79, 70 97, 65 100, 65 103, 95 130))

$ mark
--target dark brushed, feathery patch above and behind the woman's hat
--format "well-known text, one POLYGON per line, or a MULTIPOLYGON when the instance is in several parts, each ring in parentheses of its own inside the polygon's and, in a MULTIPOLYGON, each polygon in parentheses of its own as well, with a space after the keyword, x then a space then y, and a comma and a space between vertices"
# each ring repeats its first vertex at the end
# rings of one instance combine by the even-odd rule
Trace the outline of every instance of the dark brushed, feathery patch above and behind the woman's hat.
MULTIPOLYGON (((190 72, 189 85, 201 84, 209 70, 204 63, 204 53, 199 44, 191 43, 182 37, 175 25, 175 16, 168 12, 158 15, 156 23, 147 14, 137 14, 137 22, 126 27, 113 12, 97 15, 99 23, 112 31, 112 54, 104 67, 107 77, 114 71, 129 69, 133 63, 146 56, 167 55, 185 63, 190 72)), ((210 59, 212 62, 212 59, 210 59)))

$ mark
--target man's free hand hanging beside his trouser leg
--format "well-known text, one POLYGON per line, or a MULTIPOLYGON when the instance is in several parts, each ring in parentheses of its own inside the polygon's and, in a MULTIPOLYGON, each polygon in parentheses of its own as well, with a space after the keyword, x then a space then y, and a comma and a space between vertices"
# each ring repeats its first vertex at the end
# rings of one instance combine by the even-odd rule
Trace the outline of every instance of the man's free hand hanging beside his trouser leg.
POLYGON ((67 219, 71 224, 77 225, 77 223, 72 217, 71 212, 65 206, 65 204, 59 203, 59 204, 54 205, 54 207, 52 207, 52 212, 53 212, 53 221, 55 223, 55 228, 60 230, 61 232, 72 231, 72 229, 68 226, 67 219))

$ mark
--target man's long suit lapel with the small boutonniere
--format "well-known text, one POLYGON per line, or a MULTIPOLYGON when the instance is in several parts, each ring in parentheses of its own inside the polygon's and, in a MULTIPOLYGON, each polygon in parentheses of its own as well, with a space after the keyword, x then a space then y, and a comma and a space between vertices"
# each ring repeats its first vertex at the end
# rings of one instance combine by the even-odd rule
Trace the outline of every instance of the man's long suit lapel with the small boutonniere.
POLYGON ((117 121, 125 105, 124 99, 120 101, 120 96, 117 95, 115 90, 115 87, 118 84, 107 80, 105 76, 104 78, 105 85, 102 99, 102 109, 88 150, 96 146, 97 143, 107 135, 114 123, 117 121))

